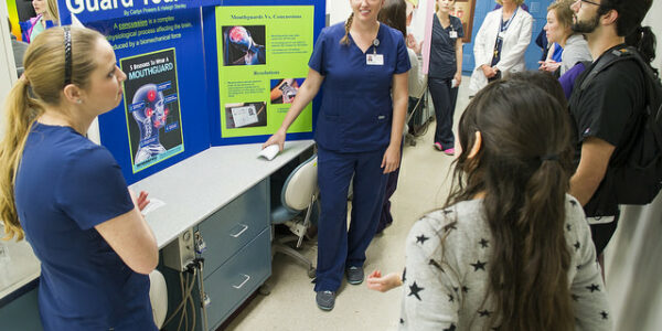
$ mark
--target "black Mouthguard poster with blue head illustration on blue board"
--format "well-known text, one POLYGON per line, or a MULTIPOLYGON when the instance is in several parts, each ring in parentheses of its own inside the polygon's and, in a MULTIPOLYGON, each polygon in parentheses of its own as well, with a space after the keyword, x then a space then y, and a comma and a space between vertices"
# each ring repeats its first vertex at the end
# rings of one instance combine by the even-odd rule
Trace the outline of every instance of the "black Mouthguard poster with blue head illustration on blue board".
POLYGON ((134 173, 184 151, 174 49, 121 58, 134 173))

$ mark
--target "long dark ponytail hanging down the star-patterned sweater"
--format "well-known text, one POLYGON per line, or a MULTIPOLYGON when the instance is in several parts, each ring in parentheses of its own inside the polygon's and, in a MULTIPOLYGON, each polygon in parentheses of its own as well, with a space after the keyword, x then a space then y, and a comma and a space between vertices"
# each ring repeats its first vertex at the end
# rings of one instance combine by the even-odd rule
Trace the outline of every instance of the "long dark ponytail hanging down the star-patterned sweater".
MULTIPOLYGON (((511 284, 517 287, 520 298, 512 301, 515 309, 509 311, 526 313, 528 318, 504 318, 505 330, 574 330, 567 276, 570 252, 565 222, 559 222, 566 218, 567 177, 557 156, 543 157, 525 185, 514 225, 514 233, 522 237, 521 246, 512 247, 521 249, 519 279, 511 284), (552 308, 554 313, 541 307, 552 308)), ((492 274, 492 281, 496 281, 496 275, 499 273, 492 274)))

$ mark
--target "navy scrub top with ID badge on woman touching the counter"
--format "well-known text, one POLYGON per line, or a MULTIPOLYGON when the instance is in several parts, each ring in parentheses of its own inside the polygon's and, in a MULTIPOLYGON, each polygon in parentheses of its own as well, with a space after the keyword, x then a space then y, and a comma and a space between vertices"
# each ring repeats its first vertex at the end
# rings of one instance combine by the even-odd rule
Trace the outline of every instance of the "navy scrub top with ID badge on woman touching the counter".
POLYGON ((403 33, 380 24, 378 46, 363 53, 352 41, 343 45, 344 23, 324 28, 308 65, 324 76, 314 138, 337 152, 384 149, 391 141, 393 75, 410 68, 403 33), (382 54, 383 65, 369 65, 366 54, 382 54))

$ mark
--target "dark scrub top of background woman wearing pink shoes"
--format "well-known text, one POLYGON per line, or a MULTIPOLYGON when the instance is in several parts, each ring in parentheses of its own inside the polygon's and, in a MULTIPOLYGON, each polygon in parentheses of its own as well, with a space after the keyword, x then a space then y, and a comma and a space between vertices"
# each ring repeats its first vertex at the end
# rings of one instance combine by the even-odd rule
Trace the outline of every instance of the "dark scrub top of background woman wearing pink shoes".
POLYGON ((455 47, 458 38, 465 36, 465 29, 460 19, 449 15, 449 20, 450 24, 444 29, 435 13, 433 42, 430 44, 430 72, 428 74, 433 78, 452 78, 458 68, 455 47), (451 31, 458 34, 457 38, 450 38, 451 31))

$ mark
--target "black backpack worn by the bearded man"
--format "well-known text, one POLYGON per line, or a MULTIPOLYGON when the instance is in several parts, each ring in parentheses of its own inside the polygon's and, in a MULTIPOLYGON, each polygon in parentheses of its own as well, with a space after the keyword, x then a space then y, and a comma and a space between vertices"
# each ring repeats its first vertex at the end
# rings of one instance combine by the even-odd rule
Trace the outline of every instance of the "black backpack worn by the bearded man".
MULTIPOLYGON (((580 90, 604 70, 619 61, 634 61, 645 81, 645 109, 622 145, 620 158, 610 160, 600 188, 613 193, 618 204, 648 204, 662 188, 662 84, 649 64, 633 47, 602 55, 585 76, 580 90)), ((588 66, 587 66, 588 67, 588 66)), ((597 194, 598 192, 596 192, 597 194)))

